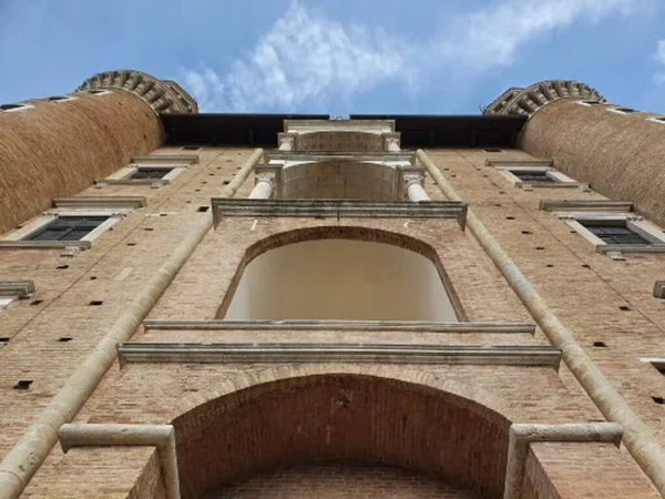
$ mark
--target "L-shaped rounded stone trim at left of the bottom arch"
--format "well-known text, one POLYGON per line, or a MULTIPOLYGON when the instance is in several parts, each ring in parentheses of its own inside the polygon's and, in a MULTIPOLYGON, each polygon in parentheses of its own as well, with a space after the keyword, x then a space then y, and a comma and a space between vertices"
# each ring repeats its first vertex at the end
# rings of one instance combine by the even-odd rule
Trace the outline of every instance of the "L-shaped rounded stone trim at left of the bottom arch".
POLYGON ((75 447, 156 447, 160 456, 166 499, 180 499, 180 478, 172 425, 75 425, 58 430, 64 454, 75 447))

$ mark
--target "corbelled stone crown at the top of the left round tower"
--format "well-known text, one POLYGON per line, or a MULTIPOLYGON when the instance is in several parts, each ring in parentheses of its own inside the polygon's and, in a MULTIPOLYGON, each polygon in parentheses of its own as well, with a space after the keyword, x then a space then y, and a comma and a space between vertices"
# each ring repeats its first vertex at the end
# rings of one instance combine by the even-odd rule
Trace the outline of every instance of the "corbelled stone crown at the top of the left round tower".
POLYGON ((198 104, 182 86, 133 70, 105 71, 85 80, 78 92, 124 90, 145 101, 156 113, 197 113, 198 104))

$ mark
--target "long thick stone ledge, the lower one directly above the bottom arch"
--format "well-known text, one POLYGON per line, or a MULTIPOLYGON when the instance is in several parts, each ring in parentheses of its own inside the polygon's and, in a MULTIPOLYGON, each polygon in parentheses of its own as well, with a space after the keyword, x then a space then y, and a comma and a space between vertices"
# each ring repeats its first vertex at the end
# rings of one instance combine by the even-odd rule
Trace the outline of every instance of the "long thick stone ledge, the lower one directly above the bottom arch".
POLYGON ((121 343, 117 345, 117 358, 121 368, 127 363, 372 363, 532 366, 557 370, 561 350, 548 346, 121 343))

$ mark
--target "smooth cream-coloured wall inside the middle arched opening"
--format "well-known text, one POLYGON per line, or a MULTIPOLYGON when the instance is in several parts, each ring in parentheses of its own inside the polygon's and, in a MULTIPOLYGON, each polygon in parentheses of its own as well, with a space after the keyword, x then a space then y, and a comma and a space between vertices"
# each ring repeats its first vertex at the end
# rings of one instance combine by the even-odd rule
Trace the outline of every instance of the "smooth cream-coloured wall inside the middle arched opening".
POLYGON ((226 319, 458 320, 437 266, 372 241, 296 242, 245 267, 226 319))

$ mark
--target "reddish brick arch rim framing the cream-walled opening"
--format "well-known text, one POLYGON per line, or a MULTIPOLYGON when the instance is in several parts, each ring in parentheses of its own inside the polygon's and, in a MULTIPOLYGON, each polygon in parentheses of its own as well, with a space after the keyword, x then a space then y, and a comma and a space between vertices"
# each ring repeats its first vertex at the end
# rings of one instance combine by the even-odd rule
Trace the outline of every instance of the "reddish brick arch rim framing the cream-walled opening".
POLYGON ((454 287, 450 278, 448 277, 446 269, 443 268, 443 265, 441 263, 441 259, 439 258, 439 255, 437 254, 437 251, 431 245, 416 237, 406 234, 400 234, 397 232, 362 226, 339 225, 315 226, 280 232, 265 237, 264 240, 260 240, 252 246, 249 246, 245 251, 245 255, 241 261, 238 268, 236 269, 234 278, 231 283, 231 286, 228 287, 228 291, 224 297, 224 301, 222 302, 219 309, 217 310, 216 316, 224 317, 226 315, 234 298, 234 295, 238 289, 238 285, 241 283, 241 279, 243 278, 243 274, 247 265, 249 265, 256 257, 270 249, 276 249, 287 245, 316 240, 351 240, 381 243, 407 249, 409 252, 413 252, 418 255, 423 256, 433 264, 438 277, 441 281, 444 294, 447 295, 447 299, 450 302, 450 307, 457 316, 457 319, 467 320, 467 316, 454 291, 454 287))

